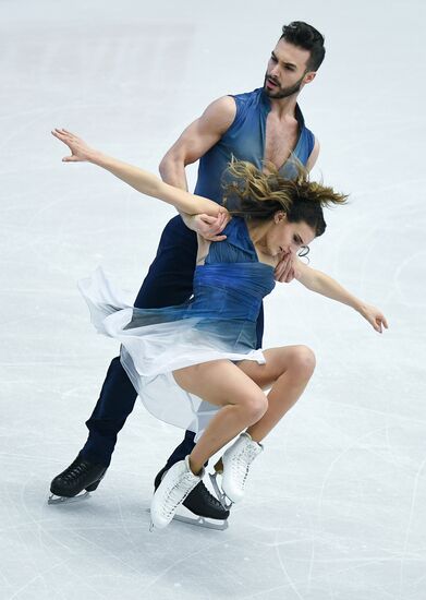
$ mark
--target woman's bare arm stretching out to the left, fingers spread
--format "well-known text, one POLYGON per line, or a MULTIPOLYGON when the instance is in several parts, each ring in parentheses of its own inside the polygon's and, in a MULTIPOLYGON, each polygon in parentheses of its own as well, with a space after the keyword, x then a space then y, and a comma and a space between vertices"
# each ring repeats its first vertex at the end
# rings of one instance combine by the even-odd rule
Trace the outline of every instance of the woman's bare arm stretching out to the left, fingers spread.
POLYGON ((122 163, 117 158, 92 148, 81 137, 65 129, 54 129, 52 135, 63 142, 71 151, 71 156, 62 158, 64 163, 87 161, 97 165, 138 192, 162 200, 181 213, 188 215, 205 213, 211 217, 217 217, 220 213, 226 212, 223 207, 207 197, 197 196, 185 190, 173 188, 148 171, 122 163))

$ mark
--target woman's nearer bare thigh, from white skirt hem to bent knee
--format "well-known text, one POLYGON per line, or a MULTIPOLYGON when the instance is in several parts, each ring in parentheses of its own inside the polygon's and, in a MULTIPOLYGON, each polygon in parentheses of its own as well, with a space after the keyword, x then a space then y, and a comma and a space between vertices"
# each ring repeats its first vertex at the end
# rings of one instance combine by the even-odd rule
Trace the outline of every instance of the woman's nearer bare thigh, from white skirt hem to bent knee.
MULTIPOLYGON (((249 362, 249 361, 244 361, 249 362)), ((230 360, 214 360, 173 371, 178 385, 216 406, 236 405, 264 393, 239 365, 230 360)))

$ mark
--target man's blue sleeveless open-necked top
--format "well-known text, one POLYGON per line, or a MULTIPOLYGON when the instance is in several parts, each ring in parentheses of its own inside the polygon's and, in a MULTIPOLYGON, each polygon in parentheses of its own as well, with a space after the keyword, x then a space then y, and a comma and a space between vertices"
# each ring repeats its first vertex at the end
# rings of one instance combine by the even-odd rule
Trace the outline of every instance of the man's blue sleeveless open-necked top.
MULTIPOLYGON (((263 168, 261 161, 265 157, 266 119, 271 108, 268 96, 259 87, 254 92, 238 94, 233 98, 236 105, 235 119, 219 142, 199 159, 198 179, 194 190, 195 194, 218 203, 222 202, 222 175, 232 156, 247 160, 258 169, 263 168)), ((306 165, 315 137, 305 127, 299 105, 295 117, 299 122, 299 137, 293 155, 306 165)), ((283 177, 291 178, 294 173, 291 161, 285 163, 280 172, 283 177)))

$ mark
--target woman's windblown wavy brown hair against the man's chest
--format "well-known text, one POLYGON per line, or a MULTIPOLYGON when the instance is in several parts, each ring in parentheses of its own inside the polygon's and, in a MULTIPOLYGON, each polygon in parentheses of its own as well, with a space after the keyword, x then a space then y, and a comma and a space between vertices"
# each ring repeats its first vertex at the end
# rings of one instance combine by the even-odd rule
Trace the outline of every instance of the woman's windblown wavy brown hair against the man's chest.
POLYGON ((276 166, 266 163, 266 172, 251 163, 234 158, 226 171, 223 205, 231 215, 245 219, 266 220, 277 211, 283 211, 290 223, 305 221, 315 235, 326 230, 322 207, 343 204, 348 195, 334 192, 332 188, 309 181, 307 170, 292 158, 295 177, 283 178, 276 166))

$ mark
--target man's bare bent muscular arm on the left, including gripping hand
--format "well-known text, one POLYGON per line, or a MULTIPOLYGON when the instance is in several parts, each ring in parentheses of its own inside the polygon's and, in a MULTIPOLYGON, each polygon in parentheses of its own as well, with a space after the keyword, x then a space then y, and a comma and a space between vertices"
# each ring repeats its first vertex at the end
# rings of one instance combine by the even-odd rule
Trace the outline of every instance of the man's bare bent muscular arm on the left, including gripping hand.
MULTIPOLYGON (((231 127, 235 113, 235 100, 231 96, 222 96, 212 101, 166 153, 159 165, 161 179, 170 185, 187 190, 186 165, 198 160, 220 140, 231 127)), ((181 213, 181 216, 190 229, 210 241, 224 239, 220 232, 227 220, 216 220, 205 215, 188 216, 181 213)))

